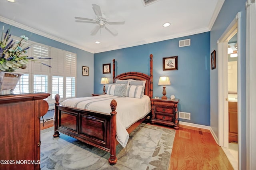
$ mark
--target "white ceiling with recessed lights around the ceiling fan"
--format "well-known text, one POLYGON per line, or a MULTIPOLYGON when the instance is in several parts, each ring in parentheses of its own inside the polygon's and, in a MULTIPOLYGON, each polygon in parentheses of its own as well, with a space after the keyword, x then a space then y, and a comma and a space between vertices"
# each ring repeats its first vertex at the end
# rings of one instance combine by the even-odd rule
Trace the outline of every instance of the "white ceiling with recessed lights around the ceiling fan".
POLYGON ((0 0, 0 21, 30 32, 98 53, 210 31, 224 0, 159 0, 144 6, 142 0, 0 0), (76 22, 75 16, 95 19, 92 4, 108 18, 124 24, 111 25, 96 35, 95 23, 76 22), (169 27, 163 27, 170 22, 169 27), (100 44, 95 42, 99 41, 100 44))

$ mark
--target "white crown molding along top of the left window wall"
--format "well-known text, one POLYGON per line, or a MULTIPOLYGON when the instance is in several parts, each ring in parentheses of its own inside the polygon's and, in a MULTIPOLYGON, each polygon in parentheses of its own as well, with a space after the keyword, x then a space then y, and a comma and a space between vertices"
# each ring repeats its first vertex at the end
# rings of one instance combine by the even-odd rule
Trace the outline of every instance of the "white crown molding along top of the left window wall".
POLYGON ((63 39, 61 39, 61 38, 52 36, 52 35, 47 34, 47 33, 45 33, 45 32, 36 30, 36 29, 34 29, 34 28, 25 26, 25 25, 23 25, 23 24, 20 24, 20 23, 18 23, 18 22, 12 21, 12 20, 9 20, 9 19, 4 18, 4 17, 2 17, 2 16, 0 16, 0 21, 1 21, 1 22, 4 22, 4 23, 6 23, 6 24, 9 24, 9 25, 15 26, 15 27, 17 27, 17 28, 20 28, 20 29, 23 29, 23 30, 32 32, 32 33, 34 33, 34 34, 38 34, 38 35, 40 35, 40 36, 44 36, 44 37, 49 38, 49 39, 51 39, 51 40, 55 40, 55 41, 58 41, 58 42, 61 42, 61 43, 70 45, 70 46, 72 46, 72 47, 76 47, 76 48, 78 48, 78 49, 82 49, 82 50, 84 50, 84 51, 88 51, 88 52, 90 52, 90 53, 93 53, 93 50, 92 50, 92 49, 88 49, 88 48, 85 48, 85 47, 83 47, 83 46, 80 46, 80 45, 77 45, 77 44, 68 42, 68 41, 66 41, 66 40, 63 40, 63 39))

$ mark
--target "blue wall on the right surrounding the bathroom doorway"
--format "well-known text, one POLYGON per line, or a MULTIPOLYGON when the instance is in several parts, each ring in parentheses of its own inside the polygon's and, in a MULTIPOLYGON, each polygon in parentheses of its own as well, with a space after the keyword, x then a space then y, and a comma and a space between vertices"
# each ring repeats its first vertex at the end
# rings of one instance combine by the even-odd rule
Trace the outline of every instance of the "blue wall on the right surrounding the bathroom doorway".
MULTIPOLYGON (((225 0, 214 25, 212 26, 210 35, 210 50, 217 49, 217 41, 222 36, 229 24, 234 20, 236 14, 241 12, 241 95, 238 100, 241 100, 241 169, 246 169, 246 0, 225 0)), ((217 51, 216 51, 217 53, 217 51)), ((218 60, 218 56, 216 57, 218 60)), ((218 61, 217 61, 218 63, 218 61)), ((211 128, 218 136, 218 67, 210 71, 210 103, 211 103, 211 128)), ((239 109, 239 108, 238 108, 239 109)))

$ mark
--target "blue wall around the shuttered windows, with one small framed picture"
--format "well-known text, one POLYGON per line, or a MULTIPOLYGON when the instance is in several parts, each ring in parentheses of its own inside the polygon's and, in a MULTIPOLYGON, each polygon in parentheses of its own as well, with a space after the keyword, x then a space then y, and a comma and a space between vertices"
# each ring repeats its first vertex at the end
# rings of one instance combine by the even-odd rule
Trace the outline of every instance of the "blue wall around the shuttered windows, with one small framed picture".
MULTIPOLYGON (((28 32, 26 30, 22 30, 15 26, 10 26, 3 22, 0 22, 0 28, 2 33, 2 27, 4 26, 4 30, 6 31, 8 28, 11 28, 11 34, 17 37, 21 35, 26 35, 29 40, 42 43, 44 45, 49 45, 51 47, 56 47, 58 49, 63 49, 65 51, 70 51, 72 53, 77 54, 77 70, 76 70, 76 79, 77 79, 77 97, 85 97, 90 96, 93 93, 93 53, 78 49, 76 47, 72 47, 70 45, 66 45, 64 43, 57 42, 50 38, 46 38, 43 36, 39 36, 37 34, 28 32), (89 67, 89 76, 82 76, 82 66, 89 67)), ((52 66, 54 67, 54 66, 52 66)))

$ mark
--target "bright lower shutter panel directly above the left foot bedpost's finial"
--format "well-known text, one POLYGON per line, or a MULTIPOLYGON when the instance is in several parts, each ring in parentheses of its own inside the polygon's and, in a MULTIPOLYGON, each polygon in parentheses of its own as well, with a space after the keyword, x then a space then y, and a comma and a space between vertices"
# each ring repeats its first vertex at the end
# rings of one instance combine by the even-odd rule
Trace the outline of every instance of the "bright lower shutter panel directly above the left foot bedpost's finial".
POLYGON ((56 94, 60 95, 60 99, 63 99, 63 77, 52 76, 52 99, 56 94))

